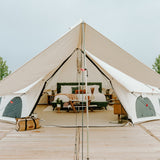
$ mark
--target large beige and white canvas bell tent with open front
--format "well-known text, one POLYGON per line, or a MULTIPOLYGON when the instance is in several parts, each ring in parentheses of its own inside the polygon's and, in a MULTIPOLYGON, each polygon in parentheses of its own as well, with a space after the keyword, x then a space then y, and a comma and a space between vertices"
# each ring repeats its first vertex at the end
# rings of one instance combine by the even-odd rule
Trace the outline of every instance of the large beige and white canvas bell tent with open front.
POLYGON ((112 88, 133 123, 160 118, 160 76, 81 22, 0 82, 0 119, 29 116, 44 90, 79 81, 77 73, 83 71, 77 57, 84 52, 88 82, 112 88))

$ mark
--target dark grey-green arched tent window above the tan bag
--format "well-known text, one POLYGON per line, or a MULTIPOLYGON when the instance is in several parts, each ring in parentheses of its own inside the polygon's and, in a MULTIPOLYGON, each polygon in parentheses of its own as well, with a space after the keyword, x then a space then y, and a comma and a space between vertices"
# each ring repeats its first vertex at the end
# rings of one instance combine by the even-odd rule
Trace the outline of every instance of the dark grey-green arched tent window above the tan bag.
POLYGON ((11 118, 20 118, 22 112, 22 99, 20 97, 15 97, 9 101, 7 104, 3 116, 11 118))

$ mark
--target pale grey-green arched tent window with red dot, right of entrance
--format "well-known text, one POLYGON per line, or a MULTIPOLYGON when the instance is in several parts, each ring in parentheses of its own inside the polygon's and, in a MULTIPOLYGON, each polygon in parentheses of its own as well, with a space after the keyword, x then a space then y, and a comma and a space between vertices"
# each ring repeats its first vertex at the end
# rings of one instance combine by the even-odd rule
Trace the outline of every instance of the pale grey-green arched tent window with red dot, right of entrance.
POLYGON ((139 96, 136 100, 137 118, 156 116, 154 106, 148 97, 139 96))

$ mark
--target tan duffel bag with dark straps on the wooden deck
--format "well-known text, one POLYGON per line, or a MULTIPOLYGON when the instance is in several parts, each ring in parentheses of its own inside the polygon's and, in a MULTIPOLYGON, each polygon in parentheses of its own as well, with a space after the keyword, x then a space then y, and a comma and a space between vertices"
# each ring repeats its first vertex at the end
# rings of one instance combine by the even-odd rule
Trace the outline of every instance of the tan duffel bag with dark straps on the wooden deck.
POLYGON ((16 118, 16 130, 26 131, 40 128, 39 118, 24 117, 16 118))

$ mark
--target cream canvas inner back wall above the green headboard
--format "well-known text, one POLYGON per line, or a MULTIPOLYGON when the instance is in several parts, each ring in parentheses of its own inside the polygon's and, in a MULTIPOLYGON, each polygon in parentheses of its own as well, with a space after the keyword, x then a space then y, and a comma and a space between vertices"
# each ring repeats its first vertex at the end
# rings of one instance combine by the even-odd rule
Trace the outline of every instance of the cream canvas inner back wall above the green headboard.
MULTIPOLYGON (((102 82, 102 88, 111 88, 107 78, 104 77, 89 60, 87 60, 87 70, 88 82, 102 82)), ((78 82, 77 52, 75 52, 54 77, 48 81, 45 89, 56 90, 57 82, 78 82)))

